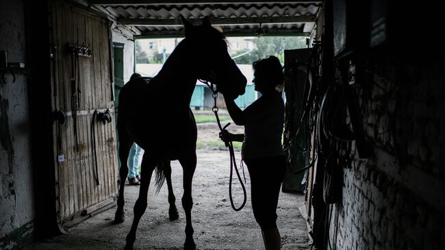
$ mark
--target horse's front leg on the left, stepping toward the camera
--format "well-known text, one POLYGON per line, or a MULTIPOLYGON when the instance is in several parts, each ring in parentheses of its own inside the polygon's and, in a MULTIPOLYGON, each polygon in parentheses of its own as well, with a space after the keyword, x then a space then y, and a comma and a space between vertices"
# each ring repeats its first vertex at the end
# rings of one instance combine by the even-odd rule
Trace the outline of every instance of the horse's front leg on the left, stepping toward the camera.
POLYGON ((153 170, 155 170, 157 165, 157 162, 153 162, 153 160, 149 157, 149 153, 144 153, 144 156, 142 156, 139 196, 133 207, 133 223, 131 224, 130 232, 126 238, 127 243, 125 244, 125 250, 133 249, 133 244, 136 241, 136 230, 138 229, 140 218, 147 209, 147 196, 149 192, 150 179, 153 170))

